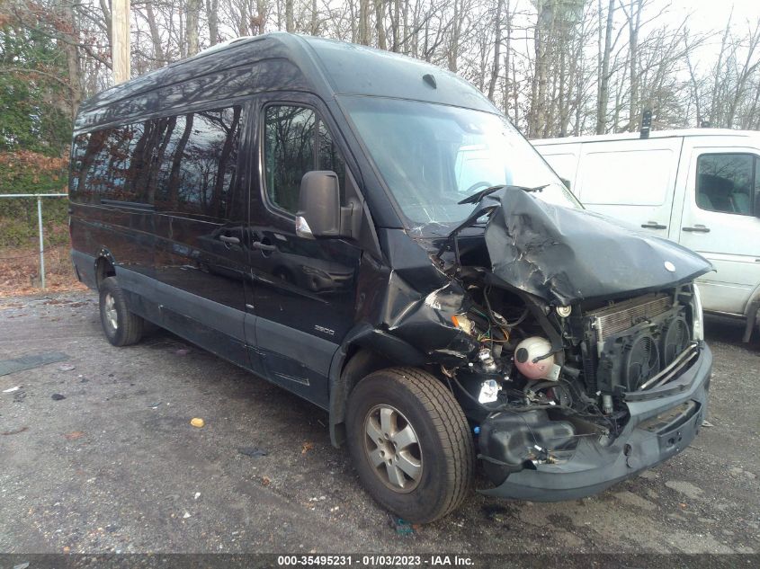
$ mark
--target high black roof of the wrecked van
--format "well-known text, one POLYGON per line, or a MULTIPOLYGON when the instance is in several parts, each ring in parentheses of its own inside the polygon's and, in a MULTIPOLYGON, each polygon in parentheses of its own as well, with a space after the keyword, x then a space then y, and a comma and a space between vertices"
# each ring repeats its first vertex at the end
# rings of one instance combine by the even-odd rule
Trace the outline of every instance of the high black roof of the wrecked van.
POLYGON ((98 93, 80 106, 75 130, 266 91, 375 95, 498 112, 478 89, 441 67, 380 49, 274 32, 230 40, 98 93))

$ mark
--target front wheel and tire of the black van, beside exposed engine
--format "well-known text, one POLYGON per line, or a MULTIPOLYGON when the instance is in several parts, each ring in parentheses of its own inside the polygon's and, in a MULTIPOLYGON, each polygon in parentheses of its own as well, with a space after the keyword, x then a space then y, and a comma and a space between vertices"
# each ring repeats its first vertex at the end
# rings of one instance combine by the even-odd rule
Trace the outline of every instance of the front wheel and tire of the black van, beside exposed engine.
MULTIPOLYGON (((390 414, 388 414, 390 413, 390 414)), ((389 419, 389 422, 393 422, 389 419)), ((353 389, 346 409, 348 449, 362 484, 380 504, 412 523, 428 523, 454 511, 469 493, 474 470, 474 450, 467 419, 451 391, 431 374, 415 368, 390 368, 376 371, 353 389), (403 467, 395 467, 393 458, 404 458, 393 435, 380 433, 378 443, 368 434, 376 432, 376 419, 391 409, 397 411, 397 435, 406 431, 407 423, 416 435, 416 447, 407 447, 409 463, 419 461, 418 478, 403 475, 403 485, 394 484, 403 467), (382 437, 380 437, 382 438, 382 437), (392 447, 387 446, 393 445, 392 447), (386 449, 383 453, 382 449, 386 449), (371 458, 373 457, 373 458, 371 458), (373 466, 374 459, 380 464, 373 466)), ((382 431, 382 429, 381 429, 382 431)), ((417 472, 416 470, 414 471, 417 472)))

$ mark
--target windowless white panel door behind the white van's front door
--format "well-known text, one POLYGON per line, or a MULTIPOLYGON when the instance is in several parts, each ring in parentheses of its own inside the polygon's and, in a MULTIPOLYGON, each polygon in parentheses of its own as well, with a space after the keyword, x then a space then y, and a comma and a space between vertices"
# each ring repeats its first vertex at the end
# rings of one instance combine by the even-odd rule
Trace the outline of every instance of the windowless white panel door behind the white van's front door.
POLYGON ((577 187, 588 209, 667 237, 683 138, 586 142, 577 187))

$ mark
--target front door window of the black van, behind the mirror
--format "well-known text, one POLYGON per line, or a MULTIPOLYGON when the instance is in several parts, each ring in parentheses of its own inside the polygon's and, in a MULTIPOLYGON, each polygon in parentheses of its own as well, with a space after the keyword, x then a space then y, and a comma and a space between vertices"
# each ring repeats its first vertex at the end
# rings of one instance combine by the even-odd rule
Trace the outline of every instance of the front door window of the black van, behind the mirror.
POLYGON ((308 107, 272 105, 264 111, 264 187, 267 199, 295 213, 300 180, 312 170, 332 170, 345 188, 345 162, 325 123, 308 107))

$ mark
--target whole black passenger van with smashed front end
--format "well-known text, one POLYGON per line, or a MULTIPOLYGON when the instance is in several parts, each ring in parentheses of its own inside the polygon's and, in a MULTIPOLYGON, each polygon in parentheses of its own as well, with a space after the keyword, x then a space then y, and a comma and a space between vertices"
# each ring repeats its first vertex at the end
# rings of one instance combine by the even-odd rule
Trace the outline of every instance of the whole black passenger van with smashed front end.
POLYGON ((707 411, 702 257, 584 210, 472 85, 284 33, 85 102, 76 274, 103 330, 146 321, 326 409, 403 518, 480 492, 603 490, 707 411))

